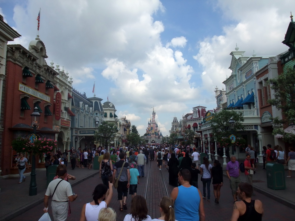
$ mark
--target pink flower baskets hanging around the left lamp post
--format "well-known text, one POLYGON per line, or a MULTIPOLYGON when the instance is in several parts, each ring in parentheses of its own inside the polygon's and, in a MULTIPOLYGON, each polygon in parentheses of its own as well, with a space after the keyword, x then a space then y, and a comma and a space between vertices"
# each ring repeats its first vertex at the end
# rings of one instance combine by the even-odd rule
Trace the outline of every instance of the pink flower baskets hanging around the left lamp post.
POLYGON ((32 142, 30 138, 18 137, 12 141, 12 149, 17 152, 29 152, 35 155, 47 153, 57 147, 56 140, 38 138, 32 142))

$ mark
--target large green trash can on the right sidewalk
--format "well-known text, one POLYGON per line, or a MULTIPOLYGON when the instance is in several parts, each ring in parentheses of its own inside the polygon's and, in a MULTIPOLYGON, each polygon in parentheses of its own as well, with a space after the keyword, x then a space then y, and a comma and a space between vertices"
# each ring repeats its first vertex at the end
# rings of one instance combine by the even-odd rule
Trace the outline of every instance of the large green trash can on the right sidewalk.
POLYGON ((270 189, 286 189, 285 170, 283 164, 266 164, 266 181, 270 189))

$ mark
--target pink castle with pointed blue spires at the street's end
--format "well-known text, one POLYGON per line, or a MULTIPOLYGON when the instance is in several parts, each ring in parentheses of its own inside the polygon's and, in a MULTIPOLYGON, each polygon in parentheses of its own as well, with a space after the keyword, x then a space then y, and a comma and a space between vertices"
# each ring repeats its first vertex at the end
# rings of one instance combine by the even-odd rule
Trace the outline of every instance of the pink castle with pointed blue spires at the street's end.
POLYGON ((156 112, 153 108, 153 115, 148 122, 148 127, 144 135, 145 142, 149 144, 160 144, 163 138, 162 133, 158 127, 157 121, 155 120, 155 117, 156 112))

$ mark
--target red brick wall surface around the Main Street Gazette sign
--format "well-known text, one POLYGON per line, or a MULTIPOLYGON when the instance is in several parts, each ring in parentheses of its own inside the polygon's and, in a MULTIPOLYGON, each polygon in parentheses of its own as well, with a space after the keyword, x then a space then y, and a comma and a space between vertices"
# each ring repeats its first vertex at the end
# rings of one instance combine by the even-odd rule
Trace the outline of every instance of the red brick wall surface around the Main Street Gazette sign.
MULTIPOLYGON (((31 113, 34 109, 34 99, 37 99, 33 96, 27 99, 28 104, 31 107, 31 110, 24 111, 24 117, 20 116, 21 108, 21 99, 20 95, 24 94, 18 90, 19 83, 22 83, 22 67, 17 64, 14 64, 11 61, 6 63, 6 78, 4 80, 5 84, 5 98, 4 98, 4 131, 3 131, 3 140, 2 140, 2 155, 1 155, 1 175, 7 175, 12 173, 17 173, 13 168, 11 168, 11 159, 12 159, 12 149, 11 141, 13 138, 13 131, 9 130, 14 125, 18 123, 25 123, 31 125, 31 113)), ((26 83, 23 83, 27 87, 30 87, 34 90, 38 90, 41 93, 45 93, 45 83, 39 84, 38 89, 35 89, 35 76, 27 77, 26 83)), ((50 103, 53 104, 53 94, 54 89, 48 89, 47 96, 50 96, 50 103)), ((40 114, 40 124, 39 128, 42 127, 53 127, 53 116, 47 116, 47 122, 44 122, 44 103, 42 101, 40 108, 43 113, 40 114)), ((49 108, 53 113, 53 105, 49 108)), ((38 129, 37 129, 38 130, 38 129)))

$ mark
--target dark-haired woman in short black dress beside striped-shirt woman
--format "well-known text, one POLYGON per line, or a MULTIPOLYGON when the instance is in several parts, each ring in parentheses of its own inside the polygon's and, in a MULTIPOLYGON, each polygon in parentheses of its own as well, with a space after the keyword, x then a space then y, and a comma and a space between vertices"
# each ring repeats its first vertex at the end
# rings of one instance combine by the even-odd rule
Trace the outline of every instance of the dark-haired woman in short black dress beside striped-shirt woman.
POLYGON ((214 160, 214 166, 212 167, 212 177, 213 177, 213 191, 215 197, 215 203, 219 203, 220 188, 223 185, 223 171, 222 166, 218 160, 214 160))

